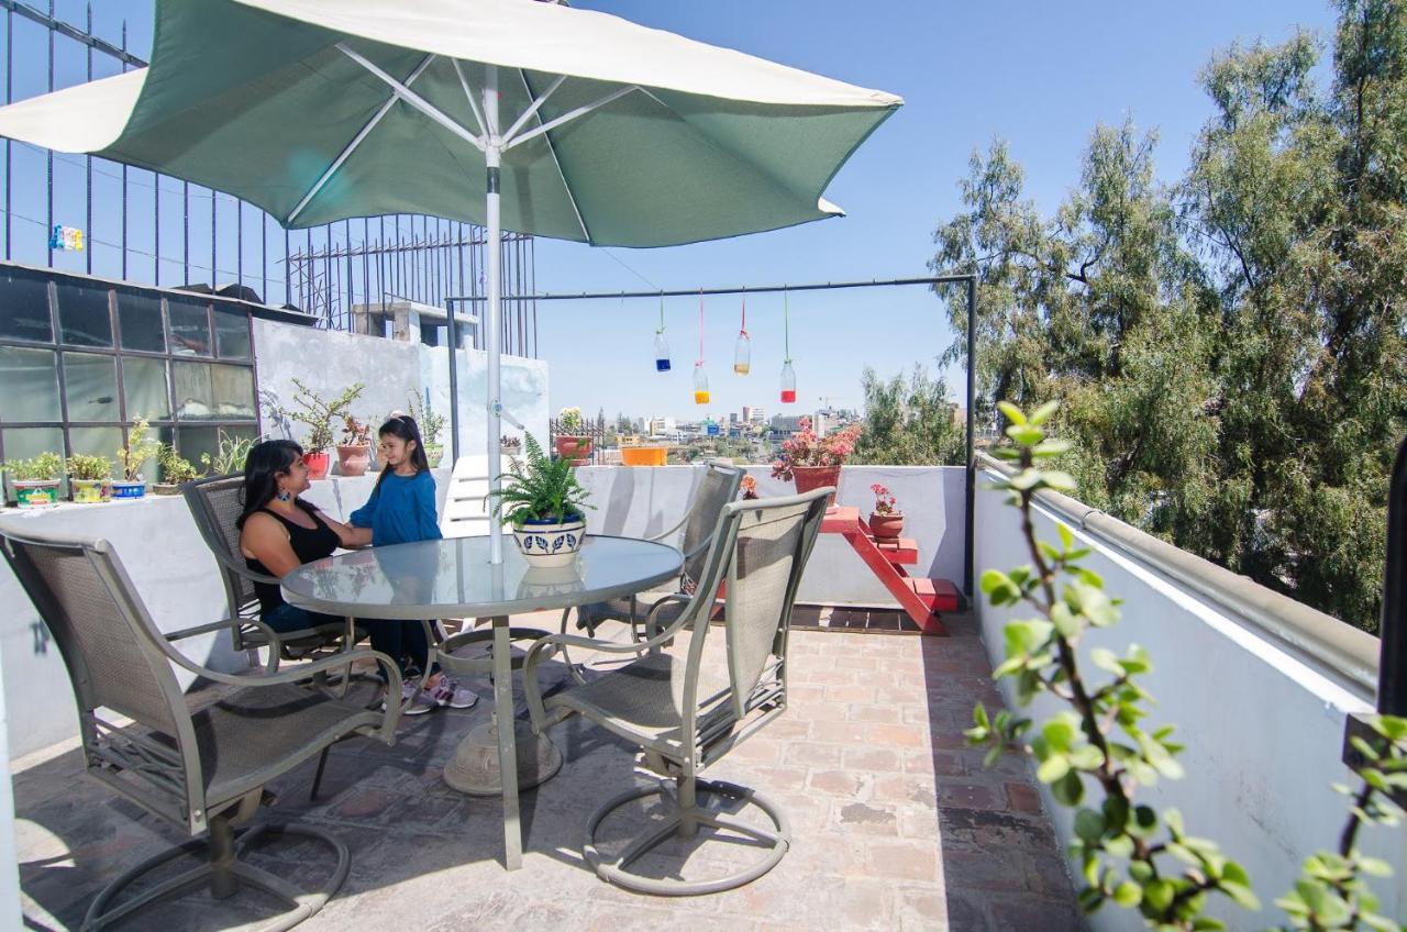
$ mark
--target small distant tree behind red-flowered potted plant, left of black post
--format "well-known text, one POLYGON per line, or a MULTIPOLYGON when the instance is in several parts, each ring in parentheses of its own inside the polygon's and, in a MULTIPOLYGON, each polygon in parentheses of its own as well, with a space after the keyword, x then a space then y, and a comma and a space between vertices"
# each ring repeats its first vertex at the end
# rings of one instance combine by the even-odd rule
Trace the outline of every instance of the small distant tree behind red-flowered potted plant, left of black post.
POLYGON ((892 466, 954 465, 964 462, 962 427, 954 420, 948 387, 923 366, 905 376, 879 379, 865 367, 864 432, 851 463, 892 466))

